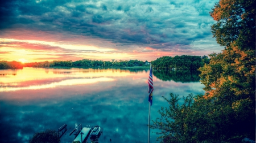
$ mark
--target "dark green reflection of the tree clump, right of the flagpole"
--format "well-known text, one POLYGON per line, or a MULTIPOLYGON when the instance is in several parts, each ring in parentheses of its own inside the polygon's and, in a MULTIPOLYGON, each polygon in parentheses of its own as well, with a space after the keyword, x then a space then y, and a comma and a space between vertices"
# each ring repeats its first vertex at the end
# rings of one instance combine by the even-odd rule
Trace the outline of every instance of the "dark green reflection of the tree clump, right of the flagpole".
POLYGON ((175 81, 181 83, 199 82, 200 72, 196 70, 154 70, 153 75, 163 81, 175 81))

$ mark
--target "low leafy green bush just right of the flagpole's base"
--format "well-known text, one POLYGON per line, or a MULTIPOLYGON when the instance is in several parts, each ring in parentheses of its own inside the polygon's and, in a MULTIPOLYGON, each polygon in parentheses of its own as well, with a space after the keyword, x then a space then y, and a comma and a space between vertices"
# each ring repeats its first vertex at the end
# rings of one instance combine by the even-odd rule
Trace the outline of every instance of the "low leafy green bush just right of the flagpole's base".
POLYGON ((163 97, 169 107, 161 108, 158 112, 161 118, 153 121, 152 129, 160 129, 156 134, 160 142, 196 142, 196 116, 193 109, 193 94, 183 97, 183 104, 179 104, 179 95, 170 93, 170 99, 163 97))

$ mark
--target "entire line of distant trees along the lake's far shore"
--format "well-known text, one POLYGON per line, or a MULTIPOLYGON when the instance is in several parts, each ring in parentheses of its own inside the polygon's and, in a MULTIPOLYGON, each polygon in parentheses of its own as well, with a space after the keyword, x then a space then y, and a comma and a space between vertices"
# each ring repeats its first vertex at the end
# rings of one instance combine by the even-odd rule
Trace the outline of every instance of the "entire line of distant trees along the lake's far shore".
MULTIPOLYGON (((164 56, 156 60, 152 60, 152 67, 155 70, 159 69, 183 69, 183 70, 197 70, 203 67, 204 64, 208 64, 209 60, 207 56, 191 56, 191 55, 181 55, 175 57, 164 56)), ((31 63, 21 63, 21 62, 7 62, 5 60, 0 61, 0 69, 22 69, 23 67, 42 67, 42 68, 81 68, 81 67, 108 67, 108 68, 149 68, 150 63, 143 62, 142 60, 115 60, 110 61, 103 60, 89 60, 82 59, 72 62, 72 60, 61 61, 53 60, 52 62, 31 62, 31 63)))

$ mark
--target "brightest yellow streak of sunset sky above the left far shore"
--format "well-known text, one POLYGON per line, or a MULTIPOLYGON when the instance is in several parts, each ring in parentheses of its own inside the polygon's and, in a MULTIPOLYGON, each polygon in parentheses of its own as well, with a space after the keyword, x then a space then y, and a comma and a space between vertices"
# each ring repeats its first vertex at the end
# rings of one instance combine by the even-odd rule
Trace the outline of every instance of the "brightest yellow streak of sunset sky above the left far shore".
MULTIPOLYGON (((106 60, 133 59, 129 52, 123 53, 113 47, 97 47, 82 45, 72 41, 47 42, 38 40, 16 40, 0 38, 1 58, 7 61, 20 61, 26 57, 25 62, 44 62, 46 60, 106 60), (114 54, 114 56, 113 56, 114 54)), ((23 60, 24 61, 24 60, 23 60)), ((20 61, 20 62, 23 62, 20 61)))

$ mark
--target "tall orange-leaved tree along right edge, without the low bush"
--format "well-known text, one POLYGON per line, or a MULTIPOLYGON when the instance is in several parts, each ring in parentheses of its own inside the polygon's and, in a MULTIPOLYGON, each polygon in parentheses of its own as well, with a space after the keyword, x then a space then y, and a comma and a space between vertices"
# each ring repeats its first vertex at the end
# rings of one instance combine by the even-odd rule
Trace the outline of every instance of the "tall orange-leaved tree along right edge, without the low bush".
POLYGON ((255 1, 221 0, 210 15, 213 37, 225 46, 200 68, 204 98, 221 111, 213 114, 221 122, 212 124, 224 141, 255 138, 255 1))

